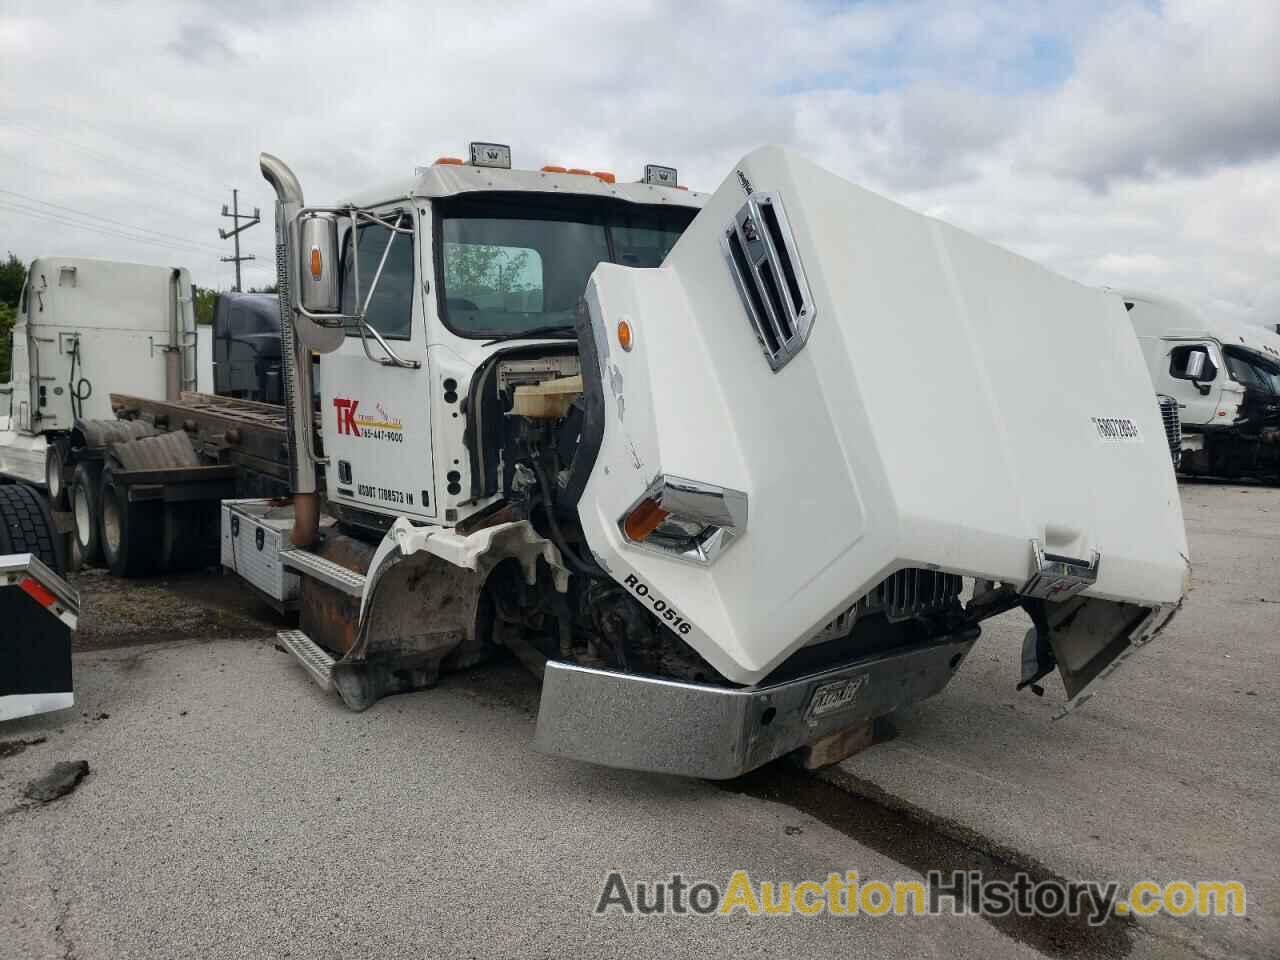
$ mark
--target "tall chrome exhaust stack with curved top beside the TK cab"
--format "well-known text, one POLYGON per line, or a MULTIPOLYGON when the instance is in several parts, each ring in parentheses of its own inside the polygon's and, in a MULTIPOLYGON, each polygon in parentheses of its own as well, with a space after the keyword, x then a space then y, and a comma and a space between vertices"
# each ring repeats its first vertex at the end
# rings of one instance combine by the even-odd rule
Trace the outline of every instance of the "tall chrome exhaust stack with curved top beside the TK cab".
POLYGON ((316 492, 319 458, 312 449, 311 348, 293 326, 293 278, 297 271, 298 212, 302 210, 302 184, 283 160, 261 154, 262 177, 275 189, 275 274, 280 300, 280 367, 284 385, 284 411, 289 424, 289 492, 293 494, 293 532, 296 547, 310 547, 320 531, 320 498, 316 492))

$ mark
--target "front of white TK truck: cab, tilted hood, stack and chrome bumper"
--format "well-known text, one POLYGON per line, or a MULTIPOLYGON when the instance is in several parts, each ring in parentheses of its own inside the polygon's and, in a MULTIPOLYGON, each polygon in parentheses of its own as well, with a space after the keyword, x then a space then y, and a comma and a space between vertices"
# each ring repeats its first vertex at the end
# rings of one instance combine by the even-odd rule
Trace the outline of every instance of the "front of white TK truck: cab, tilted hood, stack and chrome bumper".
POLYGON ((1079 703, 1183 598, 1101 291, 774 147, 710 196, 475 143, 308 206, 261 164, 293 499, 225 503, 223 558, 356 709, 506 648, 540 749, 733 777, 840 759, 1014 608, 1010 682, 1079 703))

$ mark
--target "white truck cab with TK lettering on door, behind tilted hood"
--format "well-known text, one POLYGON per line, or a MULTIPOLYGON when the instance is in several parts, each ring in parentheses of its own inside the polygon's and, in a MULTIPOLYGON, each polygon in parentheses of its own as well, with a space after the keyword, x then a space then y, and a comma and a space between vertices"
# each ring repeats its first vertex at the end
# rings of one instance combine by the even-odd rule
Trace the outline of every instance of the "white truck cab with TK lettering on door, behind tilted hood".
POLYGON ((361 306, 358 268, 369 329, 347 329, 323 361, 329 504, 374 526, 453 526, 489 506, 498 490, 477 474, 493 465, 466 442, 468 422, 486 429, 466 416, 485 406, 467 389, 476 371, 543 344, 503 390, 577 374, 575 317, 596 265, 659 266, 703 202, 675 184, 449 159, 352 198, 371 216, 343 232, 340 308, 361 306))

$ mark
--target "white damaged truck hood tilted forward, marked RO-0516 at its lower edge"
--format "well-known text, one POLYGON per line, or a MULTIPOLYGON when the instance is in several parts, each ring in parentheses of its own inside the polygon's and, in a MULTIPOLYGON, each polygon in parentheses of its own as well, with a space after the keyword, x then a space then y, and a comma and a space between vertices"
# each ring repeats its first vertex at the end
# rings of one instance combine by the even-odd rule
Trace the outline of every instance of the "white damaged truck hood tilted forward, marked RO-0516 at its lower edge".
POLYGON ((1169 449, 1115 297, 765 147, 662 268, 602 264, 586 306, 604 407, 579 500, 588 543, 733 682, 909 567, 1021 586, 1034 543, 1096 561, 1085 596, 1184 593, 1169 449), (808 339, 781 365, 726 253, 751 195, 785 211, 810 300, 808 339), (662 476, 746 495, 712 562, 623 536, 662 476))

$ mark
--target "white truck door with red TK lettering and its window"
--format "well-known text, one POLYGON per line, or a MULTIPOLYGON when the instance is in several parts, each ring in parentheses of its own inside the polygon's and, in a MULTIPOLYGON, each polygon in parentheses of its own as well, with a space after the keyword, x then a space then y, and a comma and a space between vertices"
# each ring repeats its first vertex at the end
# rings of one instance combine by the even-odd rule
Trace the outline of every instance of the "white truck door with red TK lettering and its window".
POLYGON ((346 342, 324 357, 328 495, 335 503, 379 513, 434 518, 426 324, 416 270, 416 248, 428 242, 429 229, 424 237, 412 207, 378 214, 390 220, 399 215, 401 228, 408 232, 393 234, 381 224, 361 223, 343 246, 343 312, 358 308, 358 256, 360 298, 369 300, 366 321, 387 348, 371 333, 361 337, 349 329, 346 342))

